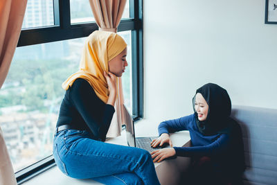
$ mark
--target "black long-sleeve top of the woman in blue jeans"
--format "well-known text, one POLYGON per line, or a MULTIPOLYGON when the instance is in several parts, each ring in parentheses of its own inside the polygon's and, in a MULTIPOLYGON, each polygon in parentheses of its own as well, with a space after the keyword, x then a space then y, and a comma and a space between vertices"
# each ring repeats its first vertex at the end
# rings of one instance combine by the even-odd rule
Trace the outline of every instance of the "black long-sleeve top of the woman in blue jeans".
POLYGON ((105 141, 114 112, 114 107, 102 102, 87 80, 78 78, 64 94, 57 127, 71 125, 91 132, 93 139, 105 141))

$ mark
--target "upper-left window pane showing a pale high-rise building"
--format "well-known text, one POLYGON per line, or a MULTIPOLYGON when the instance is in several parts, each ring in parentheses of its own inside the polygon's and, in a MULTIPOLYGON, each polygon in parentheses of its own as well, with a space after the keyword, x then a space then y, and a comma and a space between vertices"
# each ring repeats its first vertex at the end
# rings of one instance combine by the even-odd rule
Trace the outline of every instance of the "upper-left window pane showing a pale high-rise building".
POLYGON ((53 26, 53 0, 28 0, 22 28, 53 26))

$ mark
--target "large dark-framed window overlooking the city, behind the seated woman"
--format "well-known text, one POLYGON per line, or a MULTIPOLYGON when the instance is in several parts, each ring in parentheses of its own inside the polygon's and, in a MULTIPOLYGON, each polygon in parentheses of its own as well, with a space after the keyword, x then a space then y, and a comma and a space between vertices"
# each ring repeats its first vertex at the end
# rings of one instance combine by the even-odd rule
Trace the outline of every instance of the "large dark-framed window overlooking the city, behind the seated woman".
MULTIPOLYGON (((118 27, 128 44, 122 80, 125 105, 134 118, 143 112, 141 7, 141 1, 128 1, 118 27)), ((53 164, 61 85, 78 71, 84 38, 98 29, 93 21, 89 1, 28 0, 19 44, 0 91, 0 125, 19 183, 53 164)))

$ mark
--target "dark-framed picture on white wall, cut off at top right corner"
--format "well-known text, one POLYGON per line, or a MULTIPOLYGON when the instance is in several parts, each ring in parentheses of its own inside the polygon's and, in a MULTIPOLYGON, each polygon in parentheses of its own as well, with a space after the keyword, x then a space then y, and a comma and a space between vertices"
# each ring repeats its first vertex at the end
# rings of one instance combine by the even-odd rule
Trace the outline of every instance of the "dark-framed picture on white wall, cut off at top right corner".
POLYGON ((265 0, 265 24, 277 24, 277 0, 265 0))

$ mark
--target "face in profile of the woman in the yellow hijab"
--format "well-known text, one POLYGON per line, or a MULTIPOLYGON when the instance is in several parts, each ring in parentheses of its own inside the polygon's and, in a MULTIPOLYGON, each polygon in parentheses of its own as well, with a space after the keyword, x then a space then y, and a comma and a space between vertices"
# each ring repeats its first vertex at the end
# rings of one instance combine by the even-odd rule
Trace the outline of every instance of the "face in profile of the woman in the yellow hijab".
POLYGON ((114 73, 115 76, 120 77, 122 73, 125 71, 125 67, 127 67, 128 63, 126 61, 127 56, 127 47, 119 53, 115 58, 109 60, 109 71, 114 73))

